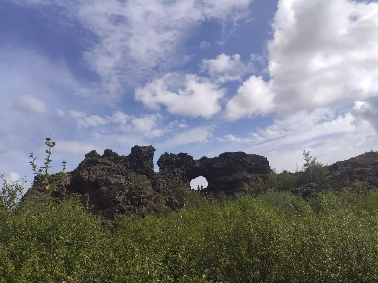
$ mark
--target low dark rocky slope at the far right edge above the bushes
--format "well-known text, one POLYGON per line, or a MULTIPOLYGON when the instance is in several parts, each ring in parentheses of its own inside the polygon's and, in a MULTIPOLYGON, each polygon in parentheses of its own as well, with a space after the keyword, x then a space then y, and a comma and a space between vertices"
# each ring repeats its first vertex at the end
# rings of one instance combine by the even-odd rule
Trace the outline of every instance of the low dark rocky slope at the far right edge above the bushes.
POLYGON ((293 193, 303 197, 316 197, 320 191, 340 191, 349 188, 356 180, 368 183, 371 189, 378 188, 377 152, 368 152, 348 160, 337 161, 327 167, 330 175, 316 183, 296 188, 293 193))

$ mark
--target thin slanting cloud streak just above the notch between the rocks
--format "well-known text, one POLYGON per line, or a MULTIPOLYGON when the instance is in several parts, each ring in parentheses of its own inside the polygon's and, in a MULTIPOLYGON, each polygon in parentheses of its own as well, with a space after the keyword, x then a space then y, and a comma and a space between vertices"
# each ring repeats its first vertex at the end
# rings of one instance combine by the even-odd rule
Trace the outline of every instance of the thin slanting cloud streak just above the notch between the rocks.
POLYGON ((172 148, 177 145, 187 145, 195 142, 206 142, 212 137, 214 126, 200 126, 189 131, 182 132, 169 140, 159 143, 156 146, 159 148, 172 148))

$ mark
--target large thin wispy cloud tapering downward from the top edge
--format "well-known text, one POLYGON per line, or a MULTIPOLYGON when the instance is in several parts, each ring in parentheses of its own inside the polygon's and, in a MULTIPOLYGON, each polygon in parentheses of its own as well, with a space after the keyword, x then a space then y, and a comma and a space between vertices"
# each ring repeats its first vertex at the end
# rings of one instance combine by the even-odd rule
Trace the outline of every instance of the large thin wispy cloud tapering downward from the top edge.
MULTIPOLYGON (((168 67, 177 64, 180 56, 177 46, 187 32, 198 23, 217 18, 222 21, 238 20, 248 16, 252 0, 235 1, 51 1, 19 0, 17 3, 31 5, 50 16, 56 6, 59 22, 68 28, 73 22, 82 26, 75 31, 78 40, 91 46, 85 52, 87 65, 102 78, 102 88, 113 97, 118 97, 125 85, 135 86, 141 78, 153 74, 155 66, 168 67), (88 39, 88 30, 95 35, 88 39), (127 83, 127 84, 125 84, 127 83)), ((72 31, 70 30, 71 34, 72 31)))

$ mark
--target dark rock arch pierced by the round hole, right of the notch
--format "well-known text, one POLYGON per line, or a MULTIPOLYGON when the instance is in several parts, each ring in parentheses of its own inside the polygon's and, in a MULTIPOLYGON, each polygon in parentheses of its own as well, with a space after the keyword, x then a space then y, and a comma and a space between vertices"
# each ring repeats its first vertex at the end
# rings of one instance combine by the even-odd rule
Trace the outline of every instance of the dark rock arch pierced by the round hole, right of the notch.
POLYGON ((190 189, 190 181, 203 176, 208 181, 206 191, 232 193, 252 188, 258 177, 265 180, 270 171, 266 157, 245 152, 225 152, 218 157, 202 157, 194 160, 186 153, 161 155, 157 162, 156 187, 184 186, 190 189))

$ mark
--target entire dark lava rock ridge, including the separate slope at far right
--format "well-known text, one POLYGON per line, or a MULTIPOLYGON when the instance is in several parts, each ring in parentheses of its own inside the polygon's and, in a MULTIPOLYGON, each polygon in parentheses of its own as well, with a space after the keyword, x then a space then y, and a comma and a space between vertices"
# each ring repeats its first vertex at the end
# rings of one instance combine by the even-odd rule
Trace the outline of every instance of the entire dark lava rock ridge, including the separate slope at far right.
MULTIPOLYGON (((64 179, 57 183, 54 197, 74 195, 92 211, 112 219, 117 213, 133 214, 138 209, 152 213, 154 206, 163 198, 171 209, 179 207, 178 189, 192 190, 190 181, 203 176, 208 187, 201 195, 212 198, 219 192, 233 194, 254 191, 255 182, 265 180, 270 172, 266 157, 245 152, 225 152, 218 157, 201 157, 195 160, 187 153, 160 156, 153 169, 152 146, 134 146, 127 156, 105 149, 103 155, 96 151, 85 154, 85 159, 64 179), (89 197, 87 196, 89 195, 89 197)), ((355 180, 366 182, 369 188, 378 187, 378 153, 368 152, 345 161, 326 166, 329 174, 316 183, 291 190, 305 198, 316 197, 324 190, 340 191, 353 185, 355 180)), ((295 175, 295 174, 293 174, 295 175)), ((52 175, 52 180, 57 180, 52 175)), ((23 199, 46 195, 46 190, 35 180, 23 199)))

